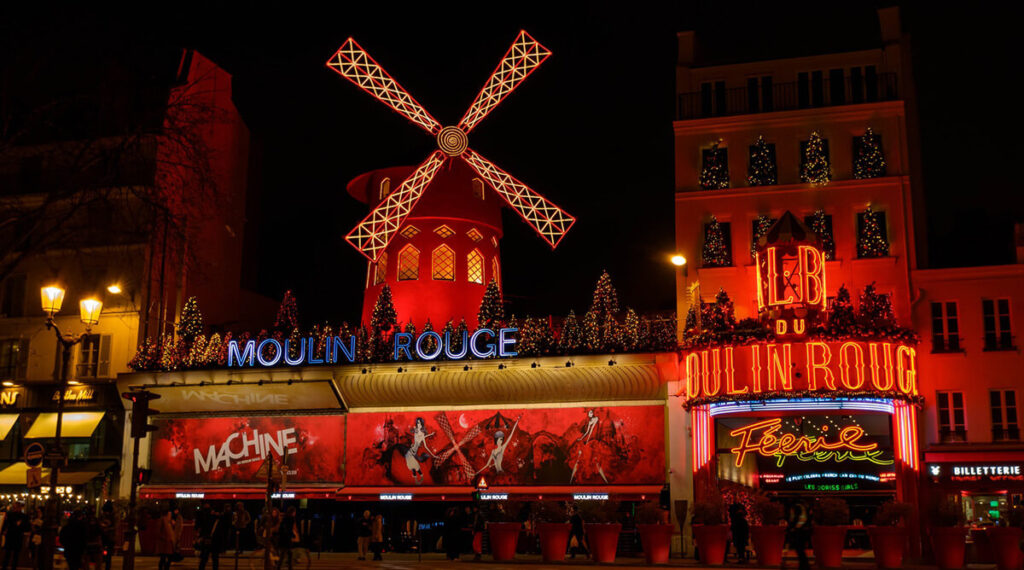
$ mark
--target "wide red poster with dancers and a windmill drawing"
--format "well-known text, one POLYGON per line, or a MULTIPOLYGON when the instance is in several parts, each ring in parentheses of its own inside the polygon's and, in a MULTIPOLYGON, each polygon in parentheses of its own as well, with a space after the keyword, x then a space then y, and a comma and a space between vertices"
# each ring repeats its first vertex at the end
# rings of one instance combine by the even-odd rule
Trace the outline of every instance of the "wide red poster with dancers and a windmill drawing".
POLYGON ((347 485, 665 482, 665 408, 352 413, 347 485))

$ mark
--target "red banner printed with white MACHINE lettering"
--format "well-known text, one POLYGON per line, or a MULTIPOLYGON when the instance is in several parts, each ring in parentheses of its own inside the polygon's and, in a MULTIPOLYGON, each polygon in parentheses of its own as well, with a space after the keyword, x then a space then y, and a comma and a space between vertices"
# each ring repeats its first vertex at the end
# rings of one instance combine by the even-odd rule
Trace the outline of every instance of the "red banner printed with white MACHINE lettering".
MULTIPOLYGON (((243 436, 269 434, 283 442, 280 432, 289 431, 295 450, 288 455, 288 480, 308 483, 340 483, 344 480, 343 449, 345 419, 341 415, 294 415, 255 418, 190 418, 156 422, 150 467, 154 483, 261 483, 256 475, 262 461, 255 448, 243 445, 243 436), (233 435, 233 437, 231 437, 233 435), (230 465, 217 462, 210 465, 210 449, 214 457, 227 450, 242 456, 232 457, 230 465), (197 451, 201 459, 197 458, 197 451), (210 469, 206 469, 208 464, 210 469)), ((275 463, 281 455, 270 446, 275 463)), ((216 459, 214 459, 216 461, 216 459)))

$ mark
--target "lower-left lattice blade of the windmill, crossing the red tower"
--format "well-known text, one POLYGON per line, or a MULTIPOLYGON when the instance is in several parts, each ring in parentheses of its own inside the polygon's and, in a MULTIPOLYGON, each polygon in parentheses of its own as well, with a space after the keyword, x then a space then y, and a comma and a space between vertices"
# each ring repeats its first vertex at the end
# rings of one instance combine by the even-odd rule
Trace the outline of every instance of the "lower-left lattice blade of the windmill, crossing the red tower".
POLYGON ((444 164, 444 154, 434 150, 423 161, 409 178, 402 181, 384 202, 359 222, 345 239, 355 246, 370 261, 377 261, 387 245, 391 243, 402 222, 413 211, 423 190, 434 179, 437 170, 444 164))

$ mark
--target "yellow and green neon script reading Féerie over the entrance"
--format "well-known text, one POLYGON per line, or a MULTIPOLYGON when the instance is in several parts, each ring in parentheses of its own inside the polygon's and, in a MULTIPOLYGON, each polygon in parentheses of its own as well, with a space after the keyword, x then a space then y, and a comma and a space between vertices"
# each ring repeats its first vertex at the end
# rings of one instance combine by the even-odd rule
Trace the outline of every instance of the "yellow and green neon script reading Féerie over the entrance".
POLYGON ((736 456, 736 467, 742 467, 748 453, 758 453, 765 457, 775 457, 776 465, 782 467, 786 457, 796 457, 802 462, 870 462, 876 465, 892 465, 892 459, 880 457, 882 450, 878 443, 860 443, 864 437, 864 429, 860 426, 847 426, 840 430, 836 441, 824 437, 797 436, 780 434, 781 418, 762 420, 742 428, 736 428, 729 435, 740 438, 739 445, 730 449, 736 456), (754 435, 760 434, 761 439, 752 442, 754 435))

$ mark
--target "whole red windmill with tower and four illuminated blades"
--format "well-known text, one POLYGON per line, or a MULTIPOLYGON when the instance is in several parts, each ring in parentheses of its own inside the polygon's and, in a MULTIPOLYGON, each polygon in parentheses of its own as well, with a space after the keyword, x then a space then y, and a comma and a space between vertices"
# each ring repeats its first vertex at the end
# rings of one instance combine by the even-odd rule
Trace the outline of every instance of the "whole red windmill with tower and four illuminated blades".
POLYGON ((551 52, 520 32, 466 115, 442 127, 349 38, 328 67, 436 137, 418 167, 379 169, 348 184, 373 208, 345 236, 369 260, 362 321, 384 284, 401 322, 422 330, 465 318, 472 326, 487 281, 501 286, 501 206, 515 210, 555 248, 575 218, 468 147, 466 135, 551 52), (459 160, 456 160, 459 159, 459 160), (494 190, 493 192, 488 190, 494 190), (421 200, 422 196, 422 200, 421 200))

